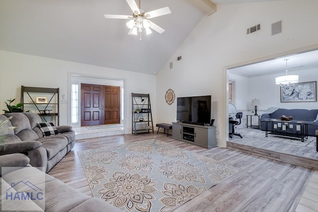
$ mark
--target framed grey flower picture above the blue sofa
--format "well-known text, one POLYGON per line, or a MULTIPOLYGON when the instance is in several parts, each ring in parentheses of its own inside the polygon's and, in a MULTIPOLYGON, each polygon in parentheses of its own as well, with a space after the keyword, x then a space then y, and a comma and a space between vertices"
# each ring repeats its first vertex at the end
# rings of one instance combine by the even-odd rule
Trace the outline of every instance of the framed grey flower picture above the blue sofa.
POLYGON ((317 81, 281 87, 280 102, 317 102, 317 81))

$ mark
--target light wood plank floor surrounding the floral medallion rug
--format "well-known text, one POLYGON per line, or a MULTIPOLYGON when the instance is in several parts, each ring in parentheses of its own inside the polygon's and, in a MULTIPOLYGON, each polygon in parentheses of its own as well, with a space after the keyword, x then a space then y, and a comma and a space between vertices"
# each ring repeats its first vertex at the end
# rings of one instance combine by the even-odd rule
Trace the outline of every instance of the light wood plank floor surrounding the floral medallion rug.
POLYGON ((205 149, 159 133, 78 140, 49 174, 90 195, 77 152, 126 142, 159 139, 235 166, 242 171, 177 208, 176 212, 295 212, 313 170, 237 150, 205 149))

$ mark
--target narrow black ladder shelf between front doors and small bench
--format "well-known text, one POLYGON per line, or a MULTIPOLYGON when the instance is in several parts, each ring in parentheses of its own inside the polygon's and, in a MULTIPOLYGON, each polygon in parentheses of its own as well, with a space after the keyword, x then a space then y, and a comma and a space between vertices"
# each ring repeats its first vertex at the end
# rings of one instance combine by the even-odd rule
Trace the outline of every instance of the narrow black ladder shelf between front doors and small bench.
POLYGON ((153 115, 149 94, 134 94, 132 97, 132 134, 154 133, 153 115))

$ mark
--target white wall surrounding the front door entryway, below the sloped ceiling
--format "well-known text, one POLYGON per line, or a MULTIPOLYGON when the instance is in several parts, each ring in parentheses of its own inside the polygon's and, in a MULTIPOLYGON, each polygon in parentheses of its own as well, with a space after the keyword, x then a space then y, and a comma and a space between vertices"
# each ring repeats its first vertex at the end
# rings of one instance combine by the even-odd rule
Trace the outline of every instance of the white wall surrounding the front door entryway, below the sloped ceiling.
MULTIPOLYGON (((68 73, 122 79, 125 87, 125 132, 131 132, 131 93, 150 94, 156 102, 156 76, 117 69, 92 66, 32 55, 0 51, 0 113, 4 101, 15 98, 20 102, 21 86, 60 88, 60 94, 68 97, 68 73)), ((98 82, 100 83, 100 81, 98 82)), ((68 124, 68 105, 60 105, 60 125, 68 124)), ((156 105, 152 105, 156 111, 156 105)), ((156 120, 156 114, 153 114, 156 120)))

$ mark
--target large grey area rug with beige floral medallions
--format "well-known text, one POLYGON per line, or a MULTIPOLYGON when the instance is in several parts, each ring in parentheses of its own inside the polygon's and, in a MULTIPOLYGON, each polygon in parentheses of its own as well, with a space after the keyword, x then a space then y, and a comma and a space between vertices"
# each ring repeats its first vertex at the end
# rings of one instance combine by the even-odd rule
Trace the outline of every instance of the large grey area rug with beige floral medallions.
POLYGON ((240 171, 156 139, 78 154, 93 196, 129 212, 169 212, 240 171))

